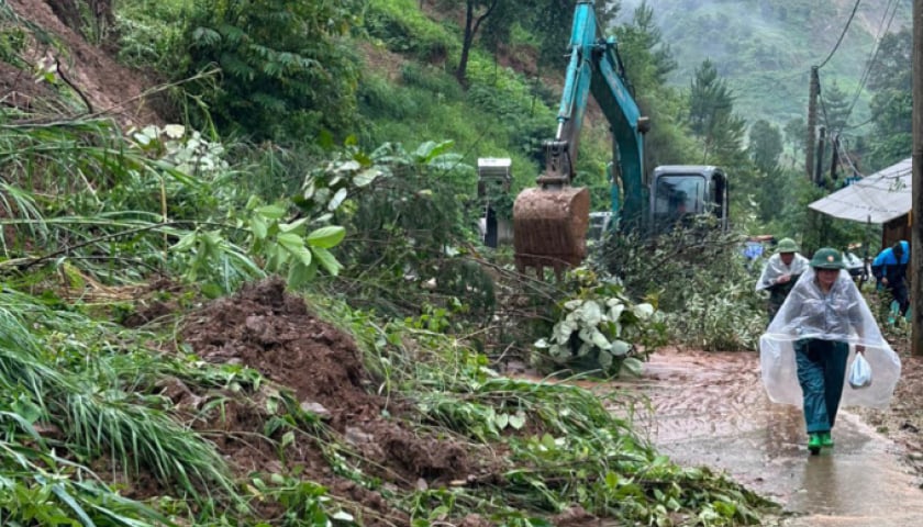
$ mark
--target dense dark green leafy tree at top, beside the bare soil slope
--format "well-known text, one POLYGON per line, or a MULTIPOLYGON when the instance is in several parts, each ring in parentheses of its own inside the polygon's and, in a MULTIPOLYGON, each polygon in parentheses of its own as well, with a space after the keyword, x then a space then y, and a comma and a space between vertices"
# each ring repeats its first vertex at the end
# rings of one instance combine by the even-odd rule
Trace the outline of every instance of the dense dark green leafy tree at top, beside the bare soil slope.
POLYGON ((226 132, 288 144, 324 128, 344 132, 355 114, 359 70, 341 37, 358 11, 355 0, 197 2, 177 43, 185 60, 176 74, 221 69, 219 79, 187 90, 226 132))

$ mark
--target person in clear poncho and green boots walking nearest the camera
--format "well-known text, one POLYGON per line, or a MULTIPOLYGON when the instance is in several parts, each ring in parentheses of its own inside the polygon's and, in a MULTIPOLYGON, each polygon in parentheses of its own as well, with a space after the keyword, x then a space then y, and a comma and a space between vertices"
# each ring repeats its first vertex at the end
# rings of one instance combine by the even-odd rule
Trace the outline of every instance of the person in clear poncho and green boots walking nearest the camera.
POLYGON ((844 405, 886 407, 901 361, 843 269, 839 251, 819 249, 810 264, 759 337, 759 366, 772 402, 802 405, 808 448, 818 453, 833 447, 831 430, 841 399, 844 405), (845 385, 856 354, 871 366, 867 388, 845 385))

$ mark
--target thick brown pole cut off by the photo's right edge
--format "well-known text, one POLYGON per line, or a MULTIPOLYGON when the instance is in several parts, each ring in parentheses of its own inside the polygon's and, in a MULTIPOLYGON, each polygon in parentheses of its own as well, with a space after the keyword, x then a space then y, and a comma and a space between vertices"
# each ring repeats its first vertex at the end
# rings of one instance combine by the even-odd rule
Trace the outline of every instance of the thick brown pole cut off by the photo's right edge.
POLYGON ((910 265, 911 265, 911 336, 910 354, 923 356, 923 1, 913 2, 913 164, 912 209, 910 211, 910 265), (915 249, 914 249, 915 247, 915 249))

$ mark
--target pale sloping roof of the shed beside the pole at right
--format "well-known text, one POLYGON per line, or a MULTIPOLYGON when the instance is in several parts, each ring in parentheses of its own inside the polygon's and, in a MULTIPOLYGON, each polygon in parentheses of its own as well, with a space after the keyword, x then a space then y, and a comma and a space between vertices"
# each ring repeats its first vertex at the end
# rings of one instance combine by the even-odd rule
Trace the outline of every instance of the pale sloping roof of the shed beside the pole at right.
POLYGON ((843 220, 886 223, 910 212, 912 179, 913 166, 907 158, 808 206, 843 220))

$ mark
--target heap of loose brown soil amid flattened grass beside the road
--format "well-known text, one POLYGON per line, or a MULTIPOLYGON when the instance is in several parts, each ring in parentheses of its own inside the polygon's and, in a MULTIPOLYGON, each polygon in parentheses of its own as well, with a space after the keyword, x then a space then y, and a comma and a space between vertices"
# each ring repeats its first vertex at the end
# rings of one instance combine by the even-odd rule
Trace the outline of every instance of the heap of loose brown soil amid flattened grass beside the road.
MULTIPOLYGON (((441 486, 470 475, 468 449, 415 431, 409 405, 370 391, 375 383, 353 339, 312 315, 303 300, 286 294, 280 280, 254 284, 204 306, 187 318, 182 337, 209 362, 243 365, 290 389, 302 408, 323 416, 354 449, 356 463, 369 475, 404 489, 441 486)), ((188 406, 190 414, 202 414, 204 394, 176 380, 164 393, 188 406)), ((226 401, 193 426, 221 430, 214 441, 242 473, 293 474, 303 469, 334 494, 403 523, 375 492, 335 474, 316 437, 303 434, 279 456, 276 441, 285 430, 273 431, 273 440, 260 437, 273 417, 265 403, 260 394, 226 401)))

